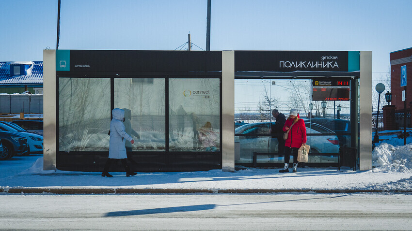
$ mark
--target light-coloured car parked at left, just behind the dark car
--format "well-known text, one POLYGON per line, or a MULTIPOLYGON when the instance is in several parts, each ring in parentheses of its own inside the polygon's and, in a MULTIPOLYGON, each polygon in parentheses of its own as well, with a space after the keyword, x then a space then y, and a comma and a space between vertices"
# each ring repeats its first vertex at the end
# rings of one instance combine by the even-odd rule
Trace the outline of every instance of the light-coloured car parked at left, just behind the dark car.
POLYGON ((28 154, 43 153, 43 136, 28 132, 17 124, 5 121, 0 121, 0 130, 16 131, 24 135, 27 139, 27 144, 29 145, 28 154))

